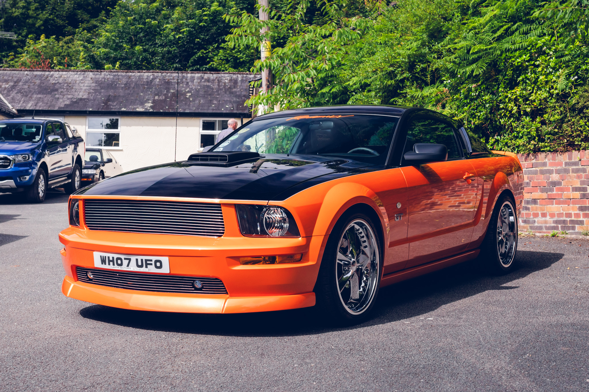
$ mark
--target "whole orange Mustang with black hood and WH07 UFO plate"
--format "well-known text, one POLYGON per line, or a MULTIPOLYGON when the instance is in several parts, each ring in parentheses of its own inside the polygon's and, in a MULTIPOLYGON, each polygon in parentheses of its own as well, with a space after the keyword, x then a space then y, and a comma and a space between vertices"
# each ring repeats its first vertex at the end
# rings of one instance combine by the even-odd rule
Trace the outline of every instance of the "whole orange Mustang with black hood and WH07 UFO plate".
POLYGON ((476 257, 512 270, 522 183, 511 153, 431 110, 272 113, 186 161, 72 195, 62 292, 156 311, 317 306, 358 322, 379 287, 476 257))

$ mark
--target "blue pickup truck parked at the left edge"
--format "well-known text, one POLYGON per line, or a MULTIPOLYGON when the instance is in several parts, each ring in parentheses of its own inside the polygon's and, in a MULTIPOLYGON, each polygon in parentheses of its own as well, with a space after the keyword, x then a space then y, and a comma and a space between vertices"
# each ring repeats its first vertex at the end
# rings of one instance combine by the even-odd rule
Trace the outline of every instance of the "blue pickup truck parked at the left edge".
POLYGON ((0 120, 0 193, 23 192, 41 203, 47 190, 80 189, 84 139, 56 119, 0 120))

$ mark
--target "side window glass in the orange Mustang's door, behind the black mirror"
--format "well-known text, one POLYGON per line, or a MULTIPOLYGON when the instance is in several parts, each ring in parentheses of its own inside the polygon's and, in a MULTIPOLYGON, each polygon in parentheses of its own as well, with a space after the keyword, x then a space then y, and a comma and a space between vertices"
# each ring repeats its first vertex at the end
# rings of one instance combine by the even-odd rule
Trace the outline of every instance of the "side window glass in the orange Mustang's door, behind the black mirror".
POLYGON ((430 119, 416 119, 407 130, 405 152, 413 151, 416 143, 443 144, 448 149, 448 159, 461 158, 454 131, 449 125, 430 119))

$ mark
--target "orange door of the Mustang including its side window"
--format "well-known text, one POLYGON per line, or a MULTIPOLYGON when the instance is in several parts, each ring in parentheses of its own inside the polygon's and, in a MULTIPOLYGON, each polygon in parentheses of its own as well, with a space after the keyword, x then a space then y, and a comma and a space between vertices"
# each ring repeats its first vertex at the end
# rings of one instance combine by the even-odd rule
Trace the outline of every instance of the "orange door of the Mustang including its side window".
POLYGON ((415 143, 438 143, 448 148, 448 160, 411 166, 405 163, 409 199, 409 259, 407 267, 431 262, 466 250, 477 205, 477 181, 451 124, 433 116, 419 116, 406 126, 403 153, 415 143))

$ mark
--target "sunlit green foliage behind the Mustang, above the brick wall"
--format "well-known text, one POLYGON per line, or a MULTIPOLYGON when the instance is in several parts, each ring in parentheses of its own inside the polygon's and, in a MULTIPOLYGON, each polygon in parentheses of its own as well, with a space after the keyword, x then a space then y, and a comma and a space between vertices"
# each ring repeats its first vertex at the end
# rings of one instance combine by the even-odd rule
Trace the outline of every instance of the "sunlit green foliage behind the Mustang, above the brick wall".
POLYGON ((405 0, 345 15, 345 0, 320 0, 321 25, 307 22, 307 4, 293 2, 267 24, 246 14, 230 19, 240 25, 228 37, 233 44, 259 44, 266 25, 287 36, 254 64, 256 72, 270 68, 276 86, 252 103, 422 106, 461 120, 492 149, 589 148, 580 2, 405 0), (571 6, 576 14, 563 11, 571 6))

